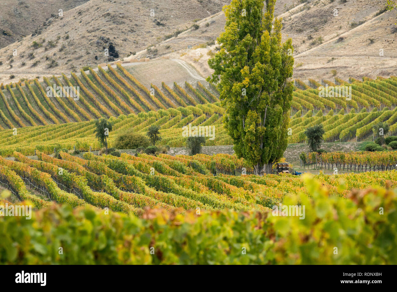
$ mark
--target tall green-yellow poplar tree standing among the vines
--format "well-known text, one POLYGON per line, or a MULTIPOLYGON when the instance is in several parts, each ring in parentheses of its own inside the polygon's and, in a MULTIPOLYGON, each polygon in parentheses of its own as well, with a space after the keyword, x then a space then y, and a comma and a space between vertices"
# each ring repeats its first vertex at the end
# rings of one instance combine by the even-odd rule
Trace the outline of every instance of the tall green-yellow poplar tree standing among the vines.
POLYGON ((225 108, 224 127, 236 155, 254 173, 272 172, 287 148, 294 59, 292 40, 281 42, 281 20, 273 19, 276 0, 232 0, 224 7, 220 52, 208 60, 207 81, 218 83, 225 108))

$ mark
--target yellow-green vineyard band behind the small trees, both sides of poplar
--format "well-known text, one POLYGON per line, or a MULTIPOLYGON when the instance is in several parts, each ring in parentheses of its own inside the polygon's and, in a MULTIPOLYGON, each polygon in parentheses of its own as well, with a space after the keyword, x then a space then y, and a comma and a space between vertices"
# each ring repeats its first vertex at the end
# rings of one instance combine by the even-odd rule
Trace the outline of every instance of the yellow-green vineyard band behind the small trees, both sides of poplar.
MULTIPOLYGON (((310 112, 309 112, 310 113, 310 112)), ((321 113, 321 112, 318 112, 321 113)), ((110 132, 109 145, 112 146, 117 134, 125 131, 146 133, 150 125, 159 125, 162 140, 159 145, 170 147, 184 147, 187 137, 183 136, 183 127, 189 124, 193 126, 210 127, 213 139, 206 138, 206 145, 231 145, 233 141, 226 133, 222 125, 224 109, 219 103, 198 104, 187 106, 160 109, 135 115, 120 115, 110 117, 113 124, 113 131, 110 132)), ((390 133, 397 132, 397 108, 393 110, 383 109, 382 111, 366 112, 365 110, 355 113, 343 114, 343 111, 335 115, 316 115, 314 117, 306 114, 306 117, 295 115, 289 125, 289 142, 304 142, 304 131, 307 127, 322 124, 326 133, 324 141, 333 142, 347 140, 362 140, 372 136, 372 125, 379 121, 385 121, 390 125, 390 133)), ((206 130, 207 131, 207 130, 206 130)), ((208 131, 207 131, 208 133, 208 131)), ((89 151, 99 150, 100 145, 94 136, 94 120, 81 121, 77 123, 48 124, 36 127, 23 127, 13 131, 3 129, 0 131, 0 155, 12 156, 13 151, 22 152, 25 155, 34 155, 35 150, 46 154, 54 152, 54 148, 73 149, 89 151)), ((388 133, 386 133, 388 135, 388 133)))

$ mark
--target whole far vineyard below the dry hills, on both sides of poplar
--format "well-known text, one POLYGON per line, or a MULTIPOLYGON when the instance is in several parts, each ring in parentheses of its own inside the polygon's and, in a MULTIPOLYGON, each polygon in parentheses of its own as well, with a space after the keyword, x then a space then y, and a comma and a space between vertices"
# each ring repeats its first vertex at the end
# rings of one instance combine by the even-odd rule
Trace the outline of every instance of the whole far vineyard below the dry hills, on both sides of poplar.
MULTIPOLYGON (((295 80, 289 124, 289 143, 303 143, 307 127, 322 124, 324 142, 372 140, 372 126, 383 121, 390 126, 389 133, 397 133, 397 78, 378 78, 364 82, 355 79, 347 83, 335 78, 335 83, 322 81, 330 86, 352 86, 352 98, 321 98, 318 89, 310 88, 299 79, 295 80), (380 98, 377 98, 379 96, 380 98)), ((309 85, 322 86, 314 80, 309 85)), ((108 117, 114 123, 110 144, 118 133, 132 129, 145 132, 156 124, 161 128, 160 144, 171 147, 185 146, 186 137, 182 127, 214 126, 214 140, 207 146, 231 145, 232 140, 222 126, 224 109, 219 102, 219 93, 214 85, 207 89, 200 82, 196 88, 185 83, 185 88, 174 83, 170 88, 164 82, 161 88, 152 84, 150 90, 135 79, 124 67, 90 69, 81 77, 72 73, 62 78, 44 78, 44 83, 33 82, 2 85, 0 90, 0 155, 11 156, 13 151, 34 155, 35 150, 46 154, 54 148, 82 151, 99 150, 93 138, 94 119, 108 117), (53 98, 44 90, 52 83, 62 86, 60 92, 52 89, 53 98), (79 86, 79 100, 74 100, 65 86, 79 86), (212 92, 211 92, 211 91, 212 92), (33 126, 33 128, 32 128, 33 126), (14 131, 13 129, 17 129, 14 131)))

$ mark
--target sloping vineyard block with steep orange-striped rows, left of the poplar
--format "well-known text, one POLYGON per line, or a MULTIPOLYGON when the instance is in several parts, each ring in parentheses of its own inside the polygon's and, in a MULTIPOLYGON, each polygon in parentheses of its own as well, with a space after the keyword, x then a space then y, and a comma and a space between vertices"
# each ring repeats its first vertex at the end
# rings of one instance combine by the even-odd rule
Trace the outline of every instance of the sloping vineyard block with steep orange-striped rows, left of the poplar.
POLYGON ((197 89, 193 86, 183 89, 174 83, 175 91, 165 84, 163 90, 152 85, 152 92, 120 64, 116 68, 108 65, 108 70, 98 67, 98 72, 89 68, 89 74, 83 70, 80 73, 80 76, 72 73, 71 78, 64 74, 62 77, 44 77, 43 83, 33 80, 0 85, 0 129, 90 121, 100 117, 196 106, 208 103, 204 96, 211 101, 219 101, 219 94, 213 89, 210 92, 201 83, 197 89), (48 86, 52 88, 50 94, 47 94, 48 86), (73 96, 69 90, 71 86, 79 87, 79 98, 73 96))

